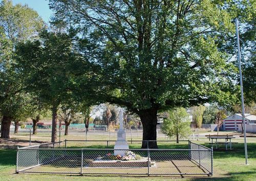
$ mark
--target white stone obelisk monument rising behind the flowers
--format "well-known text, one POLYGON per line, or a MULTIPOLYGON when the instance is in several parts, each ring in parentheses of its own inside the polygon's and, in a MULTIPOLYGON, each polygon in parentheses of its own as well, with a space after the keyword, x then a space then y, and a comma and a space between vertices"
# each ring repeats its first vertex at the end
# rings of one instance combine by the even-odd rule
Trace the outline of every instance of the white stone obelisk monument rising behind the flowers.
POLYGON ((122 109, 119 112, 119 124, 120 124, 120 128, 117 132, 117 141, 116 141, 115 147, 114 147, 114 149, 115 149, 114 154, 115 154, 115 156, 117 154, 120 154, 120 156, 124 156, 125 151, 129 150, 129 145, 126 141, 126 135, 123 130, 123 110, 122 109))

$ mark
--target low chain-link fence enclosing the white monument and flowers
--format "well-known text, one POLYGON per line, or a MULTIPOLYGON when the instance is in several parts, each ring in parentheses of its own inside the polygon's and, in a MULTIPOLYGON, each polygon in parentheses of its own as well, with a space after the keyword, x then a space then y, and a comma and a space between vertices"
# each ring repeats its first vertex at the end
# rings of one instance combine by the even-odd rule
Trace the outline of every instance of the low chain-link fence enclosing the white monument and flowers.
POLYGON ((212 149, 189 142, 190 149, 17 149, 16 173, 212 175, 212 149), (130 151, 130 152, 127 152, 130 151))

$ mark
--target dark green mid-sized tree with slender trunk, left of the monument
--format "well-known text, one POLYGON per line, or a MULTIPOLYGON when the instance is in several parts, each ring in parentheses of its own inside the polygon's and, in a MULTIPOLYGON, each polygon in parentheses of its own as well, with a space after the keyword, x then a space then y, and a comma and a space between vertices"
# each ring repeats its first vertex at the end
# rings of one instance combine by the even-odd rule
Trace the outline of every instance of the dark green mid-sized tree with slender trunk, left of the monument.
MULTIPOLYGON (((79 59, 73 47, 74 36, 52 33, 39 34, 40 40, 20 43, 16 48, 17 69, 24 76, 26 90, 36 94, 42 104, 51 106, 52 142, 56 139, 59 105, 73 103, 71 87, 79 59)), ((81 67, 81 66, 80 66, 81 67)))

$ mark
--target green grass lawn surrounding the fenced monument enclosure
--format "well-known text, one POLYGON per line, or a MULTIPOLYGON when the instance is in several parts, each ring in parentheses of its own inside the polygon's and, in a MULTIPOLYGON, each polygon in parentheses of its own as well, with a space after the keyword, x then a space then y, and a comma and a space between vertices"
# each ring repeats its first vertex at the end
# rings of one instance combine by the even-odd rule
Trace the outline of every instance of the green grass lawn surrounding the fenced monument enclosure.
MULTIPOLYGON (((199 142, 203 143, 203 142, 199 142)), ((130 148, 138 148, 139 144, 133 144, 130 148)), ((162 148, 168 145, 159 144, 162 148)), ((209 145, 206 145, 209 146, 209 145)), ((97 145, 93 148, 104 148, 97 145)), ((171 148, 186 148, 187 143, 179 145, 172 143, 171 148)), ((214 176, 212 177, 185 177, 182 180, 256 180, 256 143, 248 143, 248 161, 245 165, 244 144, 233 145, 233 150, 226 151, 222 145, 220 150, 214 150, 214 176)), ((77 176, 57 174, 15 174, 16 150, 0 149, 0 180, 145 180, 147 176, 77 176)), ((180 179, 179 177, 150 177, 152 180, 168 180, 169 178, 180 179)))

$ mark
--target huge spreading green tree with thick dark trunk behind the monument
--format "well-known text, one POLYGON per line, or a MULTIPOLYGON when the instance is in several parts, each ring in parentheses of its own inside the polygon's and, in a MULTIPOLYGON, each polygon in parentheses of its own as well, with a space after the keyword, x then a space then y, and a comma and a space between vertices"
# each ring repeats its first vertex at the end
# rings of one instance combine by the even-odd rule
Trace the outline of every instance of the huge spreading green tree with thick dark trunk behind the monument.
MULTIPOLYGON (((159 110, 236 98, 237 68, 229 59, 237 6, 210 0, 50 0, 55 19, 78 28, 81 43, 93 43, 93 76, 77 80, 84 88, 83 80, 93 85, 84 99, 138 114, 143 140, 156 140, 159 110)), ((81 46, 82 54, 88 50, 81 46)))

